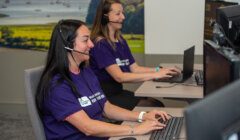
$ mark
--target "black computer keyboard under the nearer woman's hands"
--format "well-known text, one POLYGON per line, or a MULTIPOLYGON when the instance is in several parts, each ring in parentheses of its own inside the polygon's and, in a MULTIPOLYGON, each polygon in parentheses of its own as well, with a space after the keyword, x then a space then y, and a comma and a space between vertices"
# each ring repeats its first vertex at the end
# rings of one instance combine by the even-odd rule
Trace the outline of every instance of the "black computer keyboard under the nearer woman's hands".
POLYGON ((162 122, 162 120, 160 122, 167 126, 161 130, 153 131, 150 140, 178 139, 183 124, 183 117, 172 117, 166 122, 162 122))

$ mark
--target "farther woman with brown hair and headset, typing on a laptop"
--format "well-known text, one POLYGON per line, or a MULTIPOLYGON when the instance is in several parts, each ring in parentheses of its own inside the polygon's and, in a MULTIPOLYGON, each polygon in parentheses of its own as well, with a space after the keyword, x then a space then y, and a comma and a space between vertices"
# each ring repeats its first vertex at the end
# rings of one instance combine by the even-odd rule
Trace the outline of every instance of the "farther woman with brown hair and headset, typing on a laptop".
POLYGON ((139 66, 121 35, 124 19, 120 0, 101 0, 91 31, 95 47, 90 51, 90 66, 111 103, 130 110, 136 105, 163 106, 153 98, 134 97, 133 92, 123 89, 122 83, 170 78, 180 71, 139 66))

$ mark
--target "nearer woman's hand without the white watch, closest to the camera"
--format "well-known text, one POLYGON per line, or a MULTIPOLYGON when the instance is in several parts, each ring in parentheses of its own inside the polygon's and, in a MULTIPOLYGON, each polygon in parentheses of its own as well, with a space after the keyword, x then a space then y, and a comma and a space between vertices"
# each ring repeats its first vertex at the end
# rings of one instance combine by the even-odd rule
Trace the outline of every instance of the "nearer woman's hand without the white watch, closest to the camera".
POLYGON ((158 122, 157 120, 146 120, 139 125, 134 126, 134 135, 147 134, 153 130, 163 129, 166 125, 158 122))

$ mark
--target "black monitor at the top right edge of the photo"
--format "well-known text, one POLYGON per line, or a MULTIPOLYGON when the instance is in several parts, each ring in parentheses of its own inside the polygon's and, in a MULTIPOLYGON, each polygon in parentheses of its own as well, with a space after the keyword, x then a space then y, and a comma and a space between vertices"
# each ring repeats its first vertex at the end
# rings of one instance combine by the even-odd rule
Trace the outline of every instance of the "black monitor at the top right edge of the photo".
POLYGON ((240 52, 240 5, 220 7, 216 11, 216 22, 223 28, 230 40, 229 46, 240 52), (231 45, 232 43, 232 45, 231 45))

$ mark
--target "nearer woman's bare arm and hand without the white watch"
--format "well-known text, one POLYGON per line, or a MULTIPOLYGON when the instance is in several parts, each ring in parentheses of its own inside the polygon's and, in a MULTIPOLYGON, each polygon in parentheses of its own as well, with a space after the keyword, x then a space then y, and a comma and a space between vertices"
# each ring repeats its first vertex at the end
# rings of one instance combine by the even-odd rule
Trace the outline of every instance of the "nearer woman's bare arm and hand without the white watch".
POLYGON ((68 121, 85 135, 97 137, 141 135, 165 127, 158 121, 145 121, 136 126, 110 124, 89 118, 83 110, 70 115, 65 121, 68 121))

